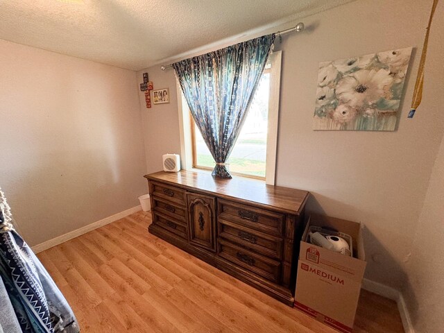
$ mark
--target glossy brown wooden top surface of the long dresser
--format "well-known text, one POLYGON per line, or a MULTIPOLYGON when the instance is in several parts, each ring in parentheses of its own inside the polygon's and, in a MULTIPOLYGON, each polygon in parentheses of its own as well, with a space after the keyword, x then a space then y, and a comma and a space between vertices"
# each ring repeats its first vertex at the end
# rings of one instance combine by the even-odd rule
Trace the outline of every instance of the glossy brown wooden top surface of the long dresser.
POLYGON ((246 200, 290 214, 300 214, 309 196, 308 191, 300 189, 266 185, 258 180, 241 177, 232 179, 213 177, 210 173, 195 171, 160 171, 144 177, 148 180, 168 182, 179 187, 216 194, 221 198, 246 200))

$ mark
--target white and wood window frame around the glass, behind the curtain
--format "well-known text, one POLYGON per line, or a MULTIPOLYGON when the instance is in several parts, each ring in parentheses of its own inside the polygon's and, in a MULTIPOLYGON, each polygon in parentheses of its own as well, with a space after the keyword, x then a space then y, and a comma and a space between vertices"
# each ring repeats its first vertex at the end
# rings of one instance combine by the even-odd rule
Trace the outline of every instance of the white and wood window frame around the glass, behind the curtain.
MULTIPOLYGON (((278 120, 280 100, 280 76, 281 76, 282 51, 275 51, 268 57, 266 69, 270 76, 270 98, 268 99, 268 128, 266 139, 266 166, 265 178, 230 171, 233 176, 254 178, 266 182, 267 185, 275 185, 276 157, 278 151, 278 120)), ((265 72, 265 71, 264 71, 265 72)), ((208 172, 211 167, 199 166, 196 156, 196 137, 194 133, 194 119, 191 117, 187 101, 182 94, 179 83, 176 85, 178 96, 179 128, 180 128, 180 152, 182 169, 208 172)))

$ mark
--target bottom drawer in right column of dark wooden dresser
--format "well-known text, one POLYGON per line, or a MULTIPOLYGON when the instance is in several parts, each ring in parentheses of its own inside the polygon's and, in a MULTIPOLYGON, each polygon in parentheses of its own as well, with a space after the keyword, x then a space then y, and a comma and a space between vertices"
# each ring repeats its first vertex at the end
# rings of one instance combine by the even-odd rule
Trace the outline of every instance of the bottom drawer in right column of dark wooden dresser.
POLYGON ((276 283, 280 280, 280 262, 253 253, 224 239, 218 239, 218 252, 220 257, 237 266, 246 268, 248 271, 262 276, 262 278, 276 283))

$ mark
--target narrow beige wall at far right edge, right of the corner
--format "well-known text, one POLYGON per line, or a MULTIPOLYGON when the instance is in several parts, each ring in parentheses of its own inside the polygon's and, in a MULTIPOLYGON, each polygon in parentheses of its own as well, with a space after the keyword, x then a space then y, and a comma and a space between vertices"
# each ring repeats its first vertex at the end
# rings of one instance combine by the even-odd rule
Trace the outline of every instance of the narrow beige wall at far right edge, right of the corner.
POLYGON ((416 332, 444 327, 444 138, 429 181, 424 207, 407 265, 404 298, 416 332))

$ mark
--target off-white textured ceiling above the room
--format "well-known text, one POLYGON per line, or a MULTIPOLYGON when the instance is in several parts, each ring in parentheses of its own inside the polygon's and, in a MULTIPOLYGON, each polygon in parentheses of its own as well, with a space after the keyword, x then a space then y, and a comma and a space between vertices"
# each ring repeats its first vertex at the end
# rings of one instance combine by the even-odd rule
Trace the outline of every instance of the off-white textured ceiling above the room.
POLYGON ((139 70, 259 26, 350 1, 1 0, 0 39, 139 70))

